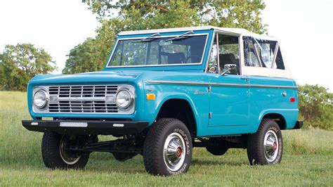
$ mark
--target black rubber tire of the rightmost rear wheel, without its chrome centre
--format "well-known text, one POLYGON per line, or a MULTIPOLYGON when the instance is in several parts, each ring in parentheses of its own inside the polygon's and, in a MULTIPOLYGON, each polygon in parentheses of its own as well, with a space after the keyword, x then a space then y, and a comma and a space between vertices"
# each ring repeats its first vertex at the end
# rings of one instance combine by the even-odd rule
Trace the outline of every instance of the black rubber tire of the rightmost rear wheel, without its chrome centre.
POLYGON ((250 134, 247 139, 247 157, 250 165, 273 165, 278 164, 282 160, 283 143, 282 133, 279 125, 271 119, 263 119, 258 131, 250 134), (278 155, 274 160, 269 161, 265 156, 264 138, 268 131, 274 131, 278 136, 278 155))

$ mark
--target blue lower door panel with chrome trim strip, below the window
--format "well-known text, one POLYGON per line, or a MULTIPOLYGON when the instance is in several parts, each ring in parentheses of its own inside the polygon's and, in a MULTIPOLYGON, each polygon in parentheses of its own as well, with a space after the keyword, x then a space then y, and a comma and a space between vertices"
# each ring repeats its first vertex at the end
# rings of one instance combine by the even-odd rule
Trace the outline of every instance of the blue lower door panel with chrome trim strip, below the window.
POLYGON ((249 124, 249 82, 240 75, 209 75, 209 127, 249 124))

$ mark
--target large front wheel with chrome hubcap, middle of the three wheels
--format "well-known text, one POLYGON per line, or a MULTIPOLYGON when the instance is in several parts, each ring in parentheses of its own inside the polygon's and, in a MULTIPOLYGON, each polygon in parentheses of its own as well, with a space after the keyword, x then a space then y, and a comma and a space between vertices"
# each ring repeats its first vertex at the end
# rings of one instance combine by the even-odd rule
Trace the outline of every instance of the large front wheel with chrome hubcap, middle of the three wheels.
POLYGON ((188 171, 192 159, 192 138, 180 120, 163 118, 145 137, 143 162, 148 173, 169 176, 188 171))

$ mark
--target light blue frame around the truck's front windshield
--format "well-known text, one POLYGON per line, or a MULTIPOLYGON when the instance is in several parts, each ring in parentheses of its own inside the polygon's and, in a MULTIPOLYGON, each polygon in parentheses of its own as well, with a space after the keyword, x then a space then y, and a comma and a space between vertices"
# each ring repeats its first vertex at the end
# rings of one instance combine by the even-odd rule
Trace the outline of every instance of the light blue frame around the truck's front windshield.
MULTIPOLYGON (((188 31, 184 31, 184 32, 188 32, 188 31)), ((159 38, 173 38, 173 37, 179 37, 181 34, 170 34, 169 33, 160 33, 160 34, 168 34, 168 35, 161 35, 159 37, 154 37, 154 39, 159 39, 159 38)), ((200 63, 178 63, 178 64, 157 64, 157 65, 116 65, 116 66, 112 66, 111 60, 113 58, 113 55, 117 49, 117 46, 119 44, 119 41, 124 41, 124 40, 137 40, 137 39, 144 39, 145 37, 126 37, 126 38, 117 38, 117 41, 115 43, 115 46, 112 49, 112 52, 110 54, 110 57, 107 59, 107 63, 106 66, 107 68, 122 68, 122 67, 163 67, 163 66, 184 66, 184 65, 202 65, 203 60, 204 60, 204 55, 206 53, 206 48, 207 48, 207 42, 209 39, 209 33, 195 33, 195 34, 190 34, 188 37, 195 37, 195 36, 206 36, 206 40, 204 41, 204 49, 202 50, 202 57, 200 60, 200 63)), ((143 41, 143 42, 150 42, 150 41, 143 41)))

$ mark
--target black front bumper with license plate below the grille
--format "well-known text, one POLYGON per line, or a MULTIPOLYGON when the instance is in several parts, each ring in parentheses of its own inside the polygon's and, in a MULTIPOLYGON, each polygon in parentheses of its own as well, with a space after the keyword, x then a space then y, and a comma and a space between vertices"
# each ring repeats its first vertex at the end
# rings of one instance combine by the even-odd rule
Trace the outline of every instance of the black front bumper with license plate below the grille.
POLYGON ((122 122, 98 120, 22 120, 30 131, 54 131, 69 135, 126 135, 138 134, 148 127, 148 122, 122 122))

